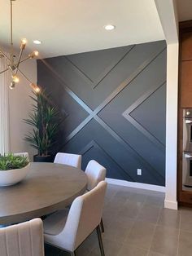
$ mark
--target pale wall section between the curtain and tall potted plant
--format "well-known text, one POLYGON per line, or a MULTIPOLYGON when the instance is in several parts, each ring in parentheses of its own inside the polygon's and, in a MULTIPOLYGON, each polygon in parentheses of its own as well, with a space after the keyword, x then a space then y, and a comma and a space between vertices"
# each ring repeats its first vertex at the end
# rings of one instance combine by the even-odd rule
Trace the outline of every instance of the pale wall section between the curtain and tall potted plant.
MULTIPOLYGON (((30 80, 37 82, 36 60, 27 60, 20 65, 20 69, 30 80)), ((29 97, 32 95, 32 89, 29 82, 20 73, 18 75, 20 83, 14 90, 9 90, 10 150, 11 152, 28 152, 30 159, 33 160, 36 151, 24 140, 24 135, 31 128, 23 121, 32 108, 33 100, 29 97)))

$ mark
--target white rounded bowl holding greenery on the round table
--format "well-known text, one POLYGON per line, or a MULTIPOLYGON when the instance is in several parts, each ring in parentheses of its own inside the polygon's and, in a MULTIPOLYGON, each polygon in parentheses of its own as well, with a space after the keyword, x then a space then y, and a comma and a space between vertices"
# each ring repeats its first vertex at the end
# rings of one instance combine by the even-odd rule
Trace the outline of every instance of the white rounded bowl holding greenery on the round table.
POLYGON ((11 186, 15 183, 19 183, 27 176, 29 166, 30 163, 28 163, 28 165, 24 168, 20 169, 0 170, 0 187, 11 186))

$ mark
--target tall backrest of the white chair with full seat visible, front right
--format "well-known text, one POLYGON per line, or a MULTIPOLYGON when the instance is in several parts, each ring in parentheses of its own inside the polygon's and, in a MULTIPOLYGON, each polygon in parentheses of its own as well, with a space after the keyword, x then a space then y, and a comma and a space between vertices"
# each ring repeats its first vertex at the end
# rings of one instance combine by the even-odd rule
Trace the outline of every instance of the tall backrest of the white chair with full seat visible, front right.
POLYGON ((74 251, 101 222, 107 182, 98 183, 91 191, 76 197, 69 210, 67 222, 59 234, 67 237, 65 248, 74 251))

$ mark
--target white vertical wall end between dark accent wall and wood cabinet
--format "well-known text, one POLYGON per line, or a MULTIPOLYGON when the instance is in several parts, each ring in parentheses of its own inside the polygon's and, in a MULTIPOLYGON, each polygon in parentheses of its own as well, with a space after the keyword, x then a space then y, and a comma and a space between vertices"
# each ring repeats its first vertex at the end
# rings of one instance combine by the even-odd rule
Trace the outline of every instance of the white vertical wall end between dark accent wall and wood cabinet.
POLYGON ((178 43, 168 44, 166 106, 166 194, 164 207, 177 209, 178 43))

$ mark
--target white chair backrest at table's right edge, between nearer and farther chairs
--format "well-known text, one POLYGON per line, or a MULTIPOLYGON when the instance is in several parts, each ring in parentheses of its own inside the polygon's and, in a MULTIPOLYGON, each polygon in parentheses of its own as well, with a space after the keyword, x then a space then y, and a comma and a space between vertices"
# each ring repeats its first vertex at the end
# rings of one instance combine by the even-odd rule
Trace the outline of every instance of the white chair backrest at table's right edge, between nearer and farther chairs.
POLYGON ((85 174, 87 175, 87 190, 93 189, 97 184, 105 180, 106 177, 106 168, 100 165, 97 161, 89 161, 85 174))

